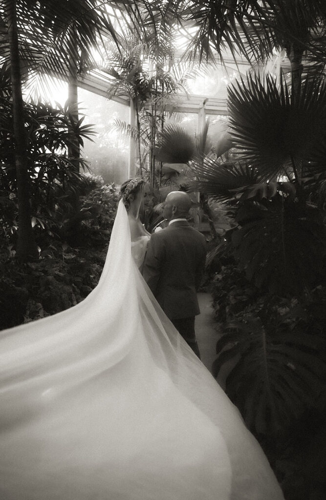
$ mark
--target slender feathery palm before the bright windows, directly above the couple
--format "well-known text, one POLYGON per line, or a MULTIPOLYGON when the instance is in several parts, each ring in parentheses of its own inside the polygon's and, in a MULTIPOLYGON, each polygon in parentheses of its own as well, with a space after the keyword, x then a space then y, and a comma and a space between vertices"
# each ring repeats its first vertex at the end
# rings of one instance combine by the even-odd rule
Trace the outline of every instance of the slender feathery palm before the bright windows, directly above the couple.
POLYGON ((187 78, 196 73, 195 67, 172 63, 169 55, 171 52, 162 49, 159 60, 153 59, 148 50, 136 45, 126 55, 115 55, 111 60, 112 65, 106 69, 114 77, 108 96, 129 96, 133 101, 137 120, 136 130, 120 120, 116 120, 113 126, 137 139, 140 175, 143 174, 144 156, 141 146, 145 145, 152 186, 156 178, 155 142, 158 133, 164 129, 166 116, 173 109, 173 99, 180 90, 185 92, 187 78), (149 63, 152 64, 151 71, 146 67, 149 63))

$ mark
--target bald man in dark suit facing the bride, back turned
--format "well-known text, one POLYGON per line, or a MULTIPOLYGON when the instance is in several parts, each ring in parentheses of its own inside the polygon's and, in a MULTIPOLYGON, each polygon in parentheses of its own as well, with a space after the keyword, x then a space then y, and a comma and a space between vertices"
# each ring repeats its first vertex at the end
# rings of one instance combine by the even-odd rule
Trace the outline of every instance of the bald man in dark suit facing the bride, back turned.
POLYGON ((169 225, 151 235, 143 276, 165 314, 200 358, 195 336, 195 315, 200 312, 196 290, 204 271, 206 241, 186 219, 190 207, 187 193, 167 195, 163 216, 169 225))

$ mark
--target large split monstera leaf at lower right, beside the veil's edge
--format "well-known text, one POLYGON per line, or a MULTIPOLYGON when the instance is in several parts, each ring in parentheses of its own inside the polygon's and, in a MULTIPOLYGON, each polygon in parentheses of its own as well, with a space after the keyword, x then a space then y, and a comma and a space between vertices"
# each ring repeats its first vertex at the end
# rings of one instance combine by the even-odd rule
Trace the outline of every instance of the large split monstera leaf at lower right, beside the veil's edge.
POLYGON ((228 323, 226 331, 216 345, 214 375, 233 360, 226 392, 248 427, 259 434, 286 428, 322 390, 324 338, 281 328, 268 332, 253 316, 228 323))

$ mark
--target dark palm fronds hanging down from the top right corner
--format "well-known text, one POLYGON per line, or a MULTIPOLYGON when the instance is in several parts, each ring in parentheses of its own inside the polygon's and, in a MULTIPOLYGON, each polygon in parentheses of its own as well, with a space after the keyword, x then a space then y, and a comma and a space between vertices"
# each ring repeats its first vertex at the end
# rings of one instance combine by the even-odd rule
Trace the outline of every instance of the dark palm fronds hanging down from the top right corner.
POLYGON ((181 17, 189 37, 188 57, 199 54, 203 59, 216 50, 223 60, 227 48, 235 59, 241 55, 259 63, 275 48, 285 48, 295 79, 305 51, 326 62, 323 0, 199 0, 187 2, 181 17))

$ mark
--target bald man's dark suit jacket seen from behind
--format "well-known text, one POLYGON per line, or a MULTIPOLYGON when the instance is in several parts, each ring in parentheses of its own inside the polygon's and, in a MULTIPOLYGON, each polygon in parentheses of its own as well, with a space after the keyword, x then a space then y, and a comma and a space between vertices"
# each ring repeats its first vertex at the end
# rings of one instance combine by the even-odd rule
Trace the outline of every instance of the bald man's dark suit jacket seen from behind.
POLYGON ((151 235, 143 276, 170 319, 199 314, 196 290, 205 257, 205 237, 187 221, 173 222, 151 235))

